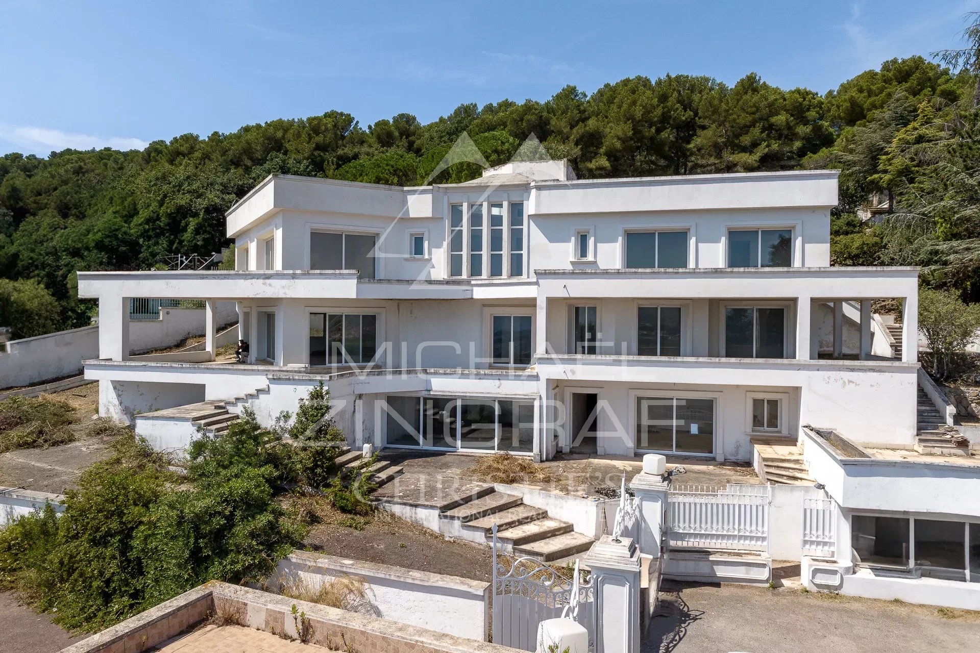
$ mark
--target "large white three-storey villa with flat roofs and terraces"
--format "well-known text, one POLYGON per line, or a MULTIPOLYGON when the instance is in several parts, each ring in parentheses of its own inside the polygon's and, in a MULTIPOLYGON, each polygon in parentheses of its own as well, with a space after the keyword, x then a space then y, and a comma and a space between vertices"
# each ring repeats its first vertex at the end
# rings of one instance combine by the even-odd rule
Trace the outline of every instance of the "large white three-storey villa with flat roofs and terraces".
MULTIPOLYGON (((269 423, 322 381, 356 447, 752 461, 835 501, 817 586, 863 570, 887 597, 956 593, 980 581, 980 466, 921 453, 952 413, 916 360, 918 270, 830 266, 837 174, 271 175, 227 212, 233 271, 78 273, 99 300, 85 376, 101 414, 160 448, 227 419, 169 409, 248 404, 269 423), (207 301, 204 350, 131 358, 131 298, 207 301), (248 364, 215 361, 220 302, 237 303, 248 364), (784 442, 803 455, 763 454, 784 442)), ((970 592, 947 603, 980 607, 970 592)))

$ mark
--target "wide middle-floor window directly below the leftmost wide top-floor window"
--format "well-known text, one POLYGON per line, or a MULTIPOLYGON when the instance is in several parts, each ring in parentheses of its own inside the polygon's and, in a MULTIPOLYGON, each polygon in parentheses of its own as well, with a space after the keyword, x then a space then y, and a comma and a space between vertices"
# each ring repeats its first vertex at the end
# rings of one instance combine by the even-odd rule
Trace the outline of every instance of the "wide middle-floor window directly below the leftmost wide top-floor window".
POLYGON ((377 315, 310 313, 310 364, 369 363, 377 352, 377 315))

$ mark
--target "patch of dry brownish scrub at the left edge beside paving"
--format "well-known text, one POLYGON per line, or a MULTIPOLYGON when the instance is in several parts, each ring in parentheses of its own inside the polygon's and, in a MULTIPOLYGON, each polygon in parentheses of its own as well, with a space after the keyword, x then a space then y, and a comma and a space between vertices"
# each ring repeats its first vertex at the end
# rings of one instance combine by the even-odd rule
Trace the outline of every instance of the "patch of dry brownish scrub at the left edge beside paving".
POLYGON ((74 407, 50 396, 11 396, 0 401, 0 451, 47 448, 73 442, 74 407))

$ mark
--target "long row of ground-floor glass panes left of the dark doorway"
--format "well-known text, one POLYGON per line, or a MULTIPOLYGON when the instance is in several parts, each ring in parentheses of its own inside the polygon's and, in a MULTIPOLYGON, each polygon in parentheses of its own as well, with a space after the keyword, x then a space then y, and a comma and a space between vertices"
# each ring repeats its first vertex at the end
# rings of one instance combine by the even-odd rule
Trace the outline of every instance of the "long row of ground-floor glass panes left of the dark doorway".
POLYGON ((530 453, 534 448, 531 399, 387 396, 386 443, 530 453))

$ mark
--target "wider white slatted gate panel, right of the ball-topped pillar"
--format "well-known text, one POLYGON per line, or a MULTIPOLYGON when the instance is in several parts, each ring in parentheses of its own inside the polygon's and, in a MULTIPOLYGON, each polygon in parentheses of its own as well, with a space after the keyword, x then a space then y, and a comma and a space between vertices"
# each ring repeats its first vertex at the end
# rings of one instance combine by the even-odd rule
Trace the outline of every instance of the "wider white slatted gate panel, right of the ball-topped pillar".
POLYGON ((768 486, 671 486, 667 490, 667 542, 672 548, 767 551, 768 486))

